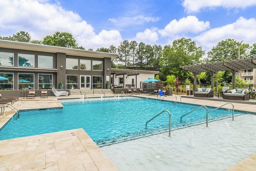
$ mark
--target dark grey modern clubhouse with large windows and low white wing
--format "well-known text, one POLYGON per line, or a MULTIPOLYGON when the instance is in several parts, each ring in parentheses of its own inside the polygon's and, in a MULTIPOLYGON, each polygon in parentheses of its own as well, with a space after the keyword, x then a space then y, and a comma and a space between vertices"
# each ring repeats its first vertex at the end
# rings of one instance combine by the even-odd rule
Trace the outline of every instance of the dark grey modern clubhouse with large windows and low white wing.
POLYGON ((112 69, 117 54, 0 40, 0 90, 107 88, 154 77, 158 71, 112 69), (140 75, 140 76, 139 76, 140 75), (138 76, 138 77, 137 77, 138 76))

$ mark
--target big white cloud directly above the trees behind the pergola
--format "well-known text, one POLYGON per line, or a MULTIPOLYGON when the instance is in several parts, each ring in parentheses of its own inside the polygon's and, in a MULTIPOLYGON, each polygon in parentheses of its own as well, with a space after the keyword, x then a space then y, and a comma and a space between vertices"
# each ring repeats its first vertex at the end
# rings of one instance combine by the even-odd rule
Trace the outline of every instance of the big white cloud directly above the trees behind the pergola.
POLYGON ((216 46, 219 41, 227 38, 232 38, 236 41, 244 40, 244 43, 249 44, 256 43, 256 19, 250 18, 247 20, 244 17, 240 17, 235 23, 210 29, 193 39, 208 51, 213 46, 216 46))

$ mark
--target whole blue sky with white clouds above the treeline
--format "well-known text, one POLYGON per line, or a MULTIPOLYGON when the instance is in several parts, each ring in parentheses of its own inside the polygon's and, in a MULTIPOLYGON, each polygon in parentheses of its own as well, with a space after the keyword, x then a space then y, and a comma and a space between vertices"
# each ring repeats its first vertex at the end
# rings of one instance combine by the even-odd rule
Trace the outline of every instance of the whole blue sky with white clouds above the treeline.
POLYGON ((5 0, 0 10, 2 36, 24 30, 42 40, 70 32, 86 49, 182 37, 206 52, 226 38, 256 43, 256 0, 5 0))

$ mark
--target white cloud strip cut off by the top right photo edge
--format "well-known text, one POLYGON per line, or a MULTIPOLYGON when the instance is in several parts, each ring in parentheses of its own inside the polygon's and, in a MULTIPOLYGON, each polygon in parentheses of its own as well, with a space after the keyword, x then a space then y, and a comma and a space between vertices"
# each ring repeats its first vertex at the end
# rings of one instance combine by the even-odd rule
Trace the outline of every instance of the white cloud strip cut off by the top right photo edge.
POLYGON ((255 6, 256 0, 184 0, 182 6, 187 12, 199 12, 204 8, 246 8, 255 6))

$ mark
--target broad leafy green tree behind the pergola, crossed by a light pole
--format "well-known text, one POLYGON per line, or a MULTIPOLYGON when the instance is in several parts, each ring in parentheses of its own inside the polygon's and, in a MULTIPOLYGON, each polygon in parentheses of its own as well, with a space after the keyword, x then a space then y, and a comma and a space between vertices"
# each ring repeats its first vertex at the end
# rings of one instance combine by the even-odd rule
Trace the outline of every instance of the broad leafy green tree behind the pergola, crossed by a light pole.
MULTIPOLYGON (((207 61, 213 62, 237 59, 239 44, 240 42, 230 38, 218 42, 218 44, 207 53, 207 61)), ((247 58, 249 49, 249 44, 241 44, 240 58, 247 58)))

